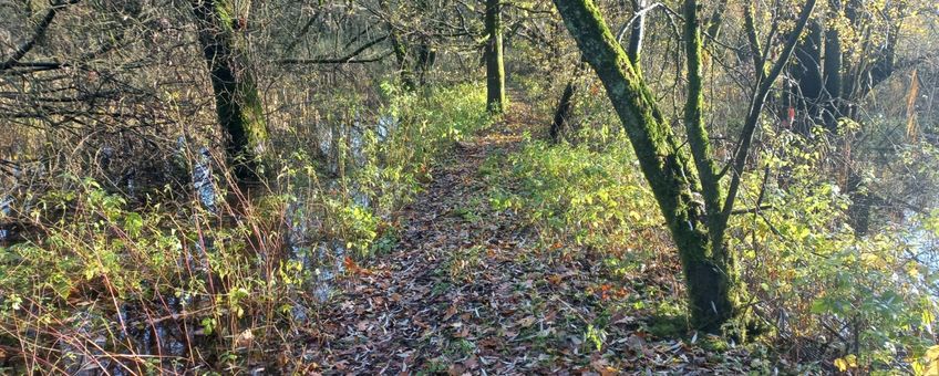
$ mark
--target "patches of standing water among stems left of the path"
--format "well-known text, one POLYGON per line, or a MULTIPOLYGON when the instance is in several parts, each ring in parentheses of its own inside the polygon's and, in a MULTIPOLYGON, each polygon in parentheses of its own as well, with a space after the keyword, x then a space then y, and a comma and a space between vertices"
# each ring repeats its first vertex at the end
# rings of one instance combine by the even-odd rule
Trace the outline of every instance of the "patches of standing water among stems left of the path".
MULTIPOLYGON (((327 177, 319 178, 320 184, 328 192, 344 195, 352 205, 374 210, 373 198, 355 185, 341 182, 338 173, 341 169, 349 173, 350 169, 371 163, 365 153, 367 143, 383 143, 396 126, 395 119, 385 116, 370 128, 359 122, 352 126, 318 127, 321 132, 317 146, 321 155, 326 156, 326 160, 321 163, 327 173, 327 177), (368 136, 369 139, 367 132, 373 133, 368 136)), ((213 158, 214 150, 208 146, 187 145, 184 137, 179 137, 176 147, 179 160, 185 160, 185 155, 193 155, 192 164, 182 163, 180 166, 190 166, 188 188, 197 198, 198 205, 209 216, 220 215, 223 202, 219 200, 224 196, 219 189, 219 170, 213 158), (196 152, 186 153, 193 149, 196 152)), ((113 150, 102 153, 105 157, 114 154, 113 150)), ((122 181, 126 182, 121 187, 124 195, 136 194, 133 176, 125 177, 122 181)), ((317 202, 306 201, 323 192, 310 198, 309 191, 314 189, 313 187, 303 184, 291 186, 298 191, 290 195, 296 199, 289 202, 286 213, 286 254, 290 261, 298 262, 305 271, 309 271, 308 281, 305 281, 302 289, 313 297, 312 304, 329 304, 336 294, 338 280, 345 272, 343 261, 351 255, 347 247, 348 240, 324 233, 319 213, 313 209, 317 208, 317 202)), ((7 195, 0 200, 0 218, 4 219, 0 221, 0 242, 10 237, 6 219, 12 218, 16 208, 19 206, 13 195, 7 195)), ((214 242, 214 239, 200 236, 198 241, 183 244, 184 255, 177 263, 179 270, 189 270, 193 273, 188 279, 211 279, 211 271, 205 262, 208 260, 207 254, 215 250, 214 242)), ((259 259, 258 262, 264 263, 265 260, 259 259)), ((107 310, 116 311, 111 317, 95 313, 100 310, 93 306, 83 309, 73 314, 58 334, 61 340, 58 341, 56 351, 61 356, 58 356, 59 363, 53 368, 72 375, 97 375, 102 374, 102 370, 111 375, 130 375, 141 372, 138 359, 143 358, 158 364, 157 367, 166 372, 192 372, 193 367, 198 365, 186 362, 199 358, 194 356, 193 352, 199 348, 198 343, 204 341, 206 333, 203 333, 204 328, 190 316, 194 312, 214 304, 207 299, 209 296, 157 294, 157 301, 148 302, 145 306, 134 302, 120 303, 116 310, 107 310), (125 364, 123 358, 133 358, 136 363, 125 364)), ((311 309, 313 307, 298 303, 291 309, 292 320, 307 322, 311 309)))

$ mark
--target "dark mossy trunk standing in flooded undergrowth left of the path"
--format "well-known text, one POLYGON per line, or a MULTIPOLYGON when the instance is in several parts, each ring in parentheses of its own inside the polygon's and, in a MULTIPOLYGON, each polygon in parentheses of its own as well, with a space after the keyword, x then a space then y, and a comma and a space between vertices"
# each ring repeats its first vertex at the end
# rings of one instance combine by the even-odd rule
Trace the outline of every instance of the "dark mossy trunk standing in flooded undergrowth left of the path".
POLYGON ((192 0, 199 42, 208 65, 218 123, 226 138, 226 155, 239 182, 261 179, 268 140, 264 107, 247 64, 247 20, 236 17, 226 0, 192 0))

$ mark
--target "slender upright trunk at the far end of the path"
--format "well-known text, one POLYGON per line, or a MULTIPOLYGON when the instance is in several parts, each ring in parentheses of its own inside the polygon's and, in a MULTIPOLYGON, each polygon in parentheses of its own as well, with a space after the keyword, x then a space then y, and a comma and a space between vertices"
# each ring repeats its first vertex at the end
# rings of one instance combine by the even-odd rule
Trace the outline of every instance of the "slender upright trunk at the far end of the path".
POLYGON ((505 111, 505 65, 502 58, 501 0, 486 0, 486 106, 492 113, 505 111))

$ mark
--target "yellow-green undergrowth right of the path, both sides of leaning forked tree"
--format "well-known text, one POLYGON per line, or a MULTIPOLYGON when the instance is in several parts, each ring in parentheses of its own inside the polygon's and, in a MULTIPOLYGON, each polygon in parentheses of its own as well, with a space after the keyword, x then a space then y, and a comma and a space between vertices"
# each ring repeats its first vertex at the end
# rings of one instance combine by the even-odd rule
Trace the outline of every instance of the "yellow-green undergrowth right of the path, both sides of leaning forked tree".
MULTIPOLYGON (((681 279, 661 213, 628 142, 606 127, 585 128, 579 138, 591 142, 526 139, 520 150, 506 156, 513 166, 508 171, 499 171, 495 158, 487 161, 482 171, 493 187, 493 208, 524 213, 541 248, 557 250, 556 257, 578 250, 599 253, 597 262, 611 275, 632 276, 648 273, 646 265, 665 262, 673 278, 681 279)), ((794 370, 937 369, 932 324, 938 275, 917 259, 923 252, 918 247, 935 231, 927 231, 928 224, 887 227, 856 237, 847 224, 849 198, 837 181, 819 179, 816 173, 825 163, 823 146, 791 133, 768 138, 774 142, 759 158, 757 170, 783 173, 746 177, 741 202, 762 209, 734 216, 729 229, 753 296, 747 307, 768 328, 750 346, 760 353, 772 349, 794 370)), ((926 215, 921 222, 936 223, 937 217, 926 215)), ((684 310, 665 301, 631 302, 637 309, 663 303, 684 310)), ((653 315, 672 317, 667 332, 681 335, 673 321, 682 315, 673 311, 653 315)))

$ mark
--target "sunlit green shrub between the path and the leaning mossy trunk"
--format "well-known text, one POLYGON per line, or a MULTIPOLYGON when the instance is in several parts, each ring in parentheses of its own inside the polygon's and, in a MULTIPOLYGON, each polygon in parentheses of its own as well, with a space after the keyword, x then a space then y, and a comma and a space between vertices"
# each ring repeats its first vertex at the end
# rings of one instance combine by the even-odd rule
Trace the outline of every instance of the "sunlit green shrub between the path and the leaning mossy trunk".
POLYGON ((491 192, 496 209, 520 207, 543 236, 600 249, 638 249, 636 234, 662 223, 628 142, 617 137, 588 146, 528 139, 508 156, 507 178, 518 181, 515 194, 491 192))

